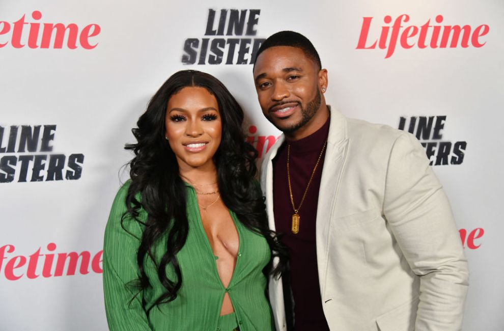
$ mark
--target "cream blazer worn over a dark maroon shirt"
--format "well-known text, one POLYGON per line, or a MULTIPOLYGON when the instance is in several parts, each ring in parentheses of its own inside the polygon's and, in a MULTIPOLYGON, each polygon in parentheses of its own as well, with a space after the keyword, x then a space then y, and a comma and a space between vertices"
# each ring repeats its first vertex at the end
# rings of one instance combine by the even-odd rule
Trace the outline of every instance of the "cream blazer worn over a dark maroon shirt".
MULTIPOLYGON (((330 114, 316 226, 329 328, 460 330, 467 260, 423 147, 408 132, 330 114)), ((261 167, 272 230, 271 160, 284 139, 261 167)), ((270 280, 269 295, 276 328, 285 330, 282 279, 270 280)))

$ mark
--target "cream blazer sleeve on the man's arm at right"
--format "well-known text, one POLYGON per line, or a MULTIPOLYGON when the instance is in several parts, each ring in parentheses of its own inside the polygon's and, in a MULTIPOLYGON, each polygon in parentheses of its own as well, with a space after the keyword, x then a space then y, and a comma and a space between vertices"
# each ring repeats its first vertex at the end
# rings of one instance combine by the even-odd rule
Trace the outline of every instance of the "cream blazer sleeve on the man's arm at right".
POLYGON ((383 212, 420 278, 415 330, 461 330, 469 271, 450 203, 410 133, 390 152, 383 212))

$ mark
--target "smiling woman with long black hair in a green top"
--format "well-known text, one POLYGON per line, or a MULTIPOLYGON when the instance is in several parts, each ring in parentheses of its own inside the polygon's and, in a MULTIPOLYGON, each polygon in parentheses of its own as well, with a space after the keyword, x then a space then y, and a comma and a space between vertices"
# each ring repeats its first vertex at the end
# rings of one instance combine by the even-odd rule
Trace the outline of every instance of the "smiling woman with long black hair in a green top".
POLYGON ((272 329, 263 270, 282 250, 242 121, 226 87, 199 71, 175 73, 149 102, 105 230, 110 329, 272 329))

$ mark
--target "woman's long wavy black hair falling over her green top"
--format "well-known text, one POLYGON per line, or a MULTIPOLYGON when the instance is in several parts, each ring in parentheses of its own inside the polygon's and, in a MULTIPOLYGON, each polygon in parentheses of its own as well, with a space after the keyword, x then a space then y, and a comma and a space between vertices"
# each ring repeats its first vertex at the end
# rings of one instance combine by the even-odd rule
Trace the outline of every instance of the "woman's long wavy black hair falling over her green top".
POLYGON ((268 228, 264 198, 255 180, 255 159, 258 152, 245 142, 242 132, 243 111, 240 105, 228 89, 212 75, 195 70, 179 71, 168 78, 154 94, 147 111, 138 119, 137 128, 132 129, 137 143, 125 146, 125 149, 133 151, 135 156, 129 162, 131 184, 126 196, 127 211, 121 219, 121 225, 125 229, 123 221, 127 217, 133 217, 144 227, 142 238, 138 238, 141 242, 136 256, 139 279, 134 282, 138 288, 137 295, 142 294, 144 309, 146 300, 143 290, 150 286, 144 263, 147 256, 156 264, 159 280, 166 289, 147 312, 154 306, 174 300, 182 285, 182 273, 175 257, 187 239, 186 188, 179 175, 175 154, 165 139, 165 117, 170 97, 185 87, 203 87, 217 99, 222 137, 213 158, 223 203, 237 214, 245 227, 266 238, 272 258, 280 258, 281 263, 274 270, 270 260, 263 270, 265 274, 278 276, 285 265, 285 247, 268 228), (142 208, 148 215, 145 222, 139 218, 142 208), (167 238, 166 251, 162 258, 156 261, 153 247, 163 237, 167 238), (175 269, 176 279, 167 277, 167 265, 172 265, 175 269))

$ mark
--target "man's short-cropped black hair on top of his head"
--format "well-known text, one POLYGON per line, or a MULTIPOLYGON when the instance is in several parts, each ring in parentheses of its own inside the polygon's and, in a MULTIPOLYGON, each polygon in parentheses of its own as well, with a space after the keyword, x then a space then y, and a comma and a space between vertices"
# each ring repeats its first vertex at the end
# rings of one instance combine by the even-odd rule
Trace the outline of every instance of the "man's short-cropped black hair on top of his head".
POLYGON ((269 36, 268 39, 261 44, 261 47, 259 47, 259 50, 257 51, 254 67, 256 67, 256 61, 259 54, 266 49, 275 46, 291 46, 299 48, 304 52, 306 57, 312 60, 319 67, 319 70, 322 69, 319 53, 313 46, 312 42, 300 33, 294 31, 281 31, 269 36))

